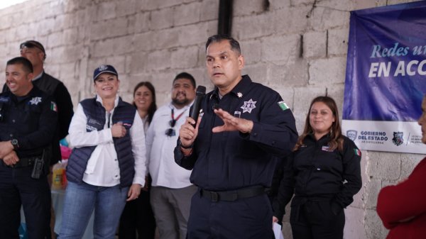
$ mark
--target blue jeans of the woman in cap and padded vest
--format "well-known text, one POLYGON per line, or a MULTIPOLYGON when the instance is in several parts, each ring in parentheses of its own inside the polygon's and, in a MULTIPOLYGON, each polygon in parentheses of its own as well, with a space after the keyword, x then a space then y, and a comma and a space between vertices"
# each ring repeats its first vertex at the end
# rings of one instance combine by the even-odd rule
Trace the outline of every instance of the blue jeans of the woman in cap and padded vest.
POLYGON ((129 187, 97 187, 68 182, 60 239, 80 239, 94 210, 94 239, 114 239, 129 187))

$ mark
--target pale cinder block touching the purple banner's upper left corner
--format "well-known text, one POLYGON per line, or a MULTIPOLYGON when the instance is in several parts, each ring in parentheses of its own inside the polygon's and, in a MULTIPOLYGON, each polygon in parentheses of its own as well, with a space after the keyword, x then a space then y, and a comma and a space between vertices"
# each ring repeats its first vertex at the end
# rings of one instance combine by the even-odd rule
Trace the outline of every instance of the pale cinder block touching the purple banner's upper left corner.
POLYGON ((309 26, 315 30, 342 28, 349 26, 349 11, 317 6, 308 19, 309 26))

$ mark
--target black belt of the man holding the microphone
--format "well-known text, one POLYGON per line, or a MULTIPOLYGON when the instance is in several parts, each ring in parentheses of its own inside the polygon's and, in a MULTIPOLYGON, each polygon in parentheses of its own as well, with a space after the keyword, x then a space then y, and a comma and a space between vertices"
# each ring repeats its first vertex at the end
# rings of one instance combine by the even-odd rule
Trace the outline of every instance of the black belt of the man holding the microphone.
POLYGON ((211 201, 236 201, 265 193, 265 187, 253 186, 229 191, 208 191, 200 189, 201 196, 211 201))

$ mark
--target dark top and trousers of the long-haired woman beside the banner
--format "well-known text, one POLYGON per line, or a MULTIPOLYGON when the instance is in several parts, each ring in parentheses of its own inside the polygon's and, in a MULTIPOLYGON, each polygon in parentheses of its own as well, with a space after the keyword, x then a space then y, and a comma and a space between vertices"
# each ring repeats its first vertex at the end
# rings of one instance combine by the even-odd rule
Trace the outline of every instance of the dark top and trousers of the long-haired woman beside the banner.
POLYGON ((344 211, 361 189, 361 151, 343 137, 343 150, 329 150, 329 135, 307 135, 283 166, 274 216, 283 218, 292 199, 293 238, 343 238, 344 211))

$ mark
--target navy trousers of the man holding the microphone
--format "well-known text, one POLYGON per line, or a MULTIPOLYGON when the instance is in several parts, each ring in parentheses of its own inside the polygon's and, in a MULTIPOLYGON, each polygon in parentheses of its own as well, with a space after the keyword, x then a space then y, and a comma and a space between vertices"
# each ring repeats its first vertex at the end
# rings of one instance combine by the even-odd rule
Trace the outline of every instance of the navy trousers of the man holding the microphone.
POLYGON ((192 196, 187 239, 271 239, 272 209, 266 194, 236 201, 192 196))

